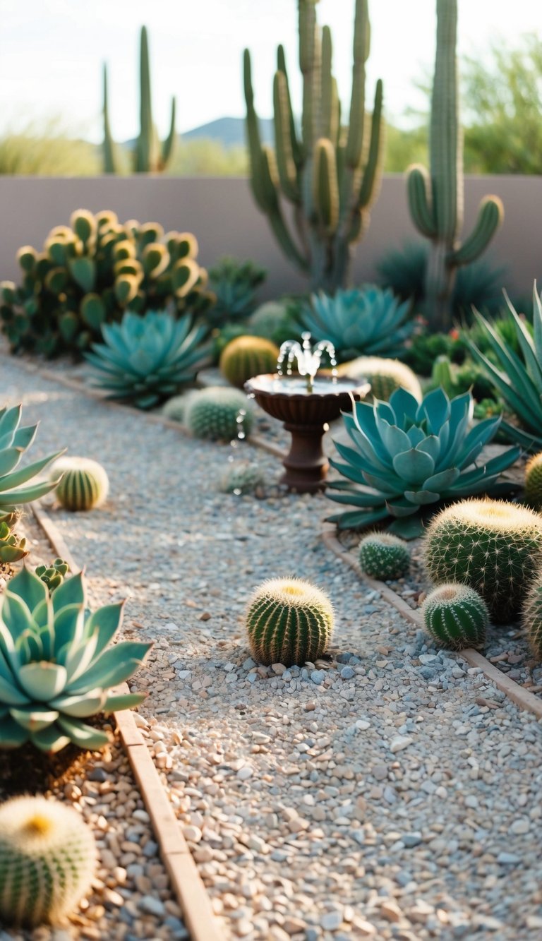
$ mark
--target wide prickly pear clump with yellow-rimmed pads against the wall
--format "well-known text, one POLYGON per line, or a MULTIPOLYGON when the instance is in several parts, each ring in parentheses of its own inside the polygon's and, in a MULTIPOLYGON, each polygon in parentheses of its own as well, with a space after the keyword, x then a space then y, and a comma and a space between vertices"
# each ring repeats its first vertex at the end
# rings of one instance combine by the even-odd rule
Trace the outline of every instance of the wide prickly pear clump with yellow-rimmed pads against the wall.
POLYGON ((115 213, 72 214, 41 251, 19 249, 19 285, 0 282, 0 317, 14 352, 46 356, 88 349, 105 324, 126 310, 145 313, 167 304, 175 317, 212 304, 207 273, 190 232, 167 234, 157 222, 120 224, 115 213))

